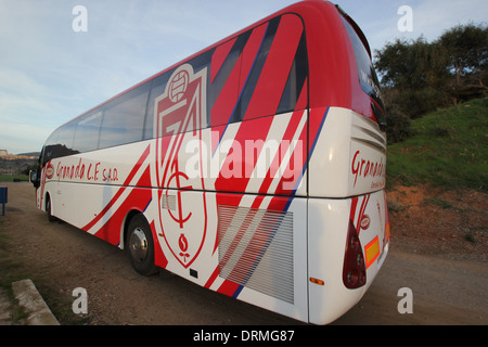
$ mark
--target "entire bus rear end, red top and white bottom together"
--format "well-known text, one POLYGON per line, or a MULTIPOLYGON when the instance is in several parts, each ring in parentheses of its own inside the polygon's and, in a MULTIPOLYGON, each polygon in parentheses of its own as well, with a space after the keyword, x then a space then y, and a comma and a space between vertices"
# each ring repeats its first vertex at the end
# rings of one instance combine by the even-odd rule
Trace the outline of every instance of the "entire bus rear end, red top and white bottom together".
POLYGON ((339 8, 313 5, 324 11, 305 21, 310 128, 321 128, 308 166, 308 295, 309 321, 325 324, 361 299, 388 252, 386 125, 363 34, 339 8))

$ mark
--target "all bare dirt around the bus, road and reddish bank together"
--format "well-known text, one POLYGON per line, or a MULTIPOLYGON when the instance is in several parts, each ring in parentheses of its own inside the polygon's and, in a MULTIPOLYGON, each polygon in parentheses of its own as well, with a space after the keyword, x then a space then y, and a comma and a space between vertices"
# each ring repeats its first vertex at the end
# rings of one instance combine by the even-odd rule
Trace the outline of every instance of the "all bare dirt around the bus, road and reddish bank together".
MULTIPOLYGON (((30 277, 62 324, 301 324, 167 272, 143 278, 119 248, 49 222, 29 183, 1 185, 9 203, 0 266, 30 277), (70 309, 77 287, 88 294, 81 320, 70 309)), ((487 195, 399 187, 388 202, 388 258, 361 301, 333 324, 488 324, 487 195), (403 287, 412 291, 412 313, 398 311, 403 287)))

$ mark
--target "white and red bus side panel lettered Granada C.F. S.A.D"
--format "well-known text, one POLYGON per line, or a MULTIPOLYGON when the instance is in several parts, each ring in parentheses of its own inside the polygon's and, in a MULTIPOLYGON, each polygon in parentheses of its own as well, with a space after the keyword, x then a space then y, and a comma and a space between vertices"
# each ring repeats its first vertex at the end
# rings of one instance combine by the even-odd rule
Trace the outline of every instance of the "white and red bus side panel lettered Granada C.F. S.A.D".
POLYGON ((143 211, 152 200, 150 146, 147 142, 125 145, 123 157, 106 149, 50 160, 38 189, 38 206, 46 209, 49 194, 53 216, 120 244, 127 214, 143 211))

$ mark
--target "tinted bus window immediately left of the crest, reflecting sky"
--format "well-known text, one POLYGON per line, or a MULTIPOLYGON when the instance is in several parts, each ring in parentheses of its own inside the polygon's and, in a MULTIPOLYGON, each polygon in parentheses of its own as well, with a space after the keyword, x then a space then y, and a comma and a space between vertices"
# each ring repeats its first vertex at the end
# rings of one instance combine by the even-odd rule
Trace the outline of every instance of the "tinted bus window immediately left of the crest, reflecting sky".
POLYGON ((104 107, 100 149, 142 140, 150 87, 150 82, 138 87, 104 107))

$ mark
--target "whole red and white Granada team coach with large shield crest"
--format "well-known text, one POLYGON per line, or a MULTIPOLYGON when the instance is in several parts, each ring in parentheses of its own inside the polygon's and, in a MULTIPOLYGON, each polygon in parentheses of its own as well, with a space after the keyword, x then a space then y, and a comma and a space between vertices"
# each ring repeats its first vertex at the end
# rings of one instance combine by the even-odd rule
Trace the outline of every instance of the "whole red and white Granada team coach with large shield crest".
POLYGON ((300 1, 57 128, 31 182, 143 275, 328 324, 388 252, 385 127, 358 25, 300 1))

